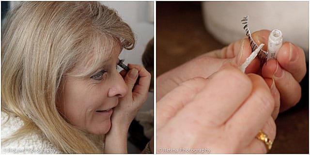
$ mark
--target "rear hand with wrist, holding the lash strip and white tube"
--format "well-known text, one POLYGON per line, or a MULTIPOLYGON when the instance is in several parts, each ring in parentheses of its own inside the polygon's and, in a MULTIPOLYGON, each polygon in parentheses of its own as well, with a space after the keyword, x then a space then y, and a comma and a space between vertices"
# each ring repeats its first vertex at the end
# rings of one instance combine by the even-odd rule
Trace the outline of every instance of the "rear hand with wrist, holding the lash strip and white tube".
MULTIPOLYGON (((258 45, 262 43, 267 45, 269 33, 270 31, 267 30, 256 31, 252 33, 252 38, 258 45)), ((267 46, 264 46, 263 50, 267 50, 266 48, 267 46)), ((228 47, 208 52, 186 62, 156 78, 156 101, 187 79, 207 78, 226 63, 234 63, 240 66, 250 54, 250 43, 245 37, 228 47)), ((301 89, 298 82, 306 74, 304 51, 292 43, 285 42, 279 49, 277 60, 269 60, 261 70, 259 60, 254 59, 247 67, 246 73, 262 75, 263 78, 273 78, 281 94, 280 111, 289 109, 300 100, 301 89), (274 74, 277 68, 279 68, 279 74, 274 74)))

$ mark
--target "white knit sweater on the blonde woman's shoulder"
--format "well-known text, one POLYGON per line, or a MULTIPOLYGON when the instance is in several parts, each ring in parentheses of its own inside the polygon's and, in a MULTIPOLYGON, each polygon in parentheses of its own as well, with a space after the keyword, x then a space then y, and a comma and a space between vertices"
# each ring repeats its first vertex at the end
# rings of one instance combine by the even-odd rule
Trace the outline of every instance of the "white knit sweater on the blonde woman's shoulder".
POLYGON ((62 154, 45 136, 37 133, 29 133, 17 140, 2 143, 3 139, 24 125, 17 116, 11 116, 6 122, 7 119, 8 114, 1 111, 1 154, 62 154))

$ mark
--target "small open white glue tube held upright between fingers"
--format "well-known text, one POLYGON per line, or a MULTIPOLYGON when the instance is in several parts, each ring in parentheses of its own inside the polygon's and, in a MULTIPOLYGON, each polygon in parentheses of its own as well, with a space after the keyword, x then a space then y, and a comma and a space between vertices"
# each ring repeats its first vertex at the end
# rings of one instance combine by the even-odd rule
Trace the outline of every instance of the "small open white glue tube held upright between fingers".
POLYGON ((282 32, 278 29, 274 29, 270 32, 269 37, 268 37, 268 58, 269 59, 276 59, 277 58, 277 53, 282 46, 283 42, 283 35, 282 32))

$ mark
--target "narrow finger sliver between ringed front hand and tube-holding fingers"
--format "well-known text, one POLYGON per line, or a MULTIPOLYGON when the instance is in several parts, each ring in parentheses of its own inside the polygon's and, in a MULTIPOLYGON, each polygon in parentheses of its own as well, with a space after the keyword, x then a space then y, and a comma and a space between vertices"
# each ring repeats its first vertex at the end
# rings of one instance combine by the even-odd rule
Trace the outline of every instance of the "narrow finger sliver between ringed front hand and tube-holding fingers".
POLYGON ((270 92, 271 92, 273 98, 275 99, 275 108, 272 111, 271 116, 274 120, 276 120, 276 118, 278 117, 278 114, 279 114, 279 109, 280 109, 280 93, 276 87, 275 80, 273 78, 264 78, 264 80, 266 81, 267 85, 269 86, 270 92))

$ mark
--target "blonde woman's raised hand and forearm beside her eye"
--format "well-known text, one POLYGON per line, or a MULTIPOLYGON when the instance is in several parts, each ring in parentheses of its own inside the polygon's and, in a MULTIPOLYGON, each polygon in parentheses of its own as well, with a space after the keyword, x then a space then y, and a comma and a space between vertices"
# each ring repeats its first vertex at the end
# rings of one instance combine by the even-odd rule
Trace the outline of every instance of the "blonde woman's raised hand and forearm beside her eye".
POLYGON ((147 99, 151 74, 140 65, 128 64, 130 70, 123 70, 123 76, 128 92, 119 99, 119 104, 113 109, 111 129, 106 135, 105 153, 127 153, 127 132, 130 123, 147 99), (139 77, 139 82, 135 85, 139 77))

